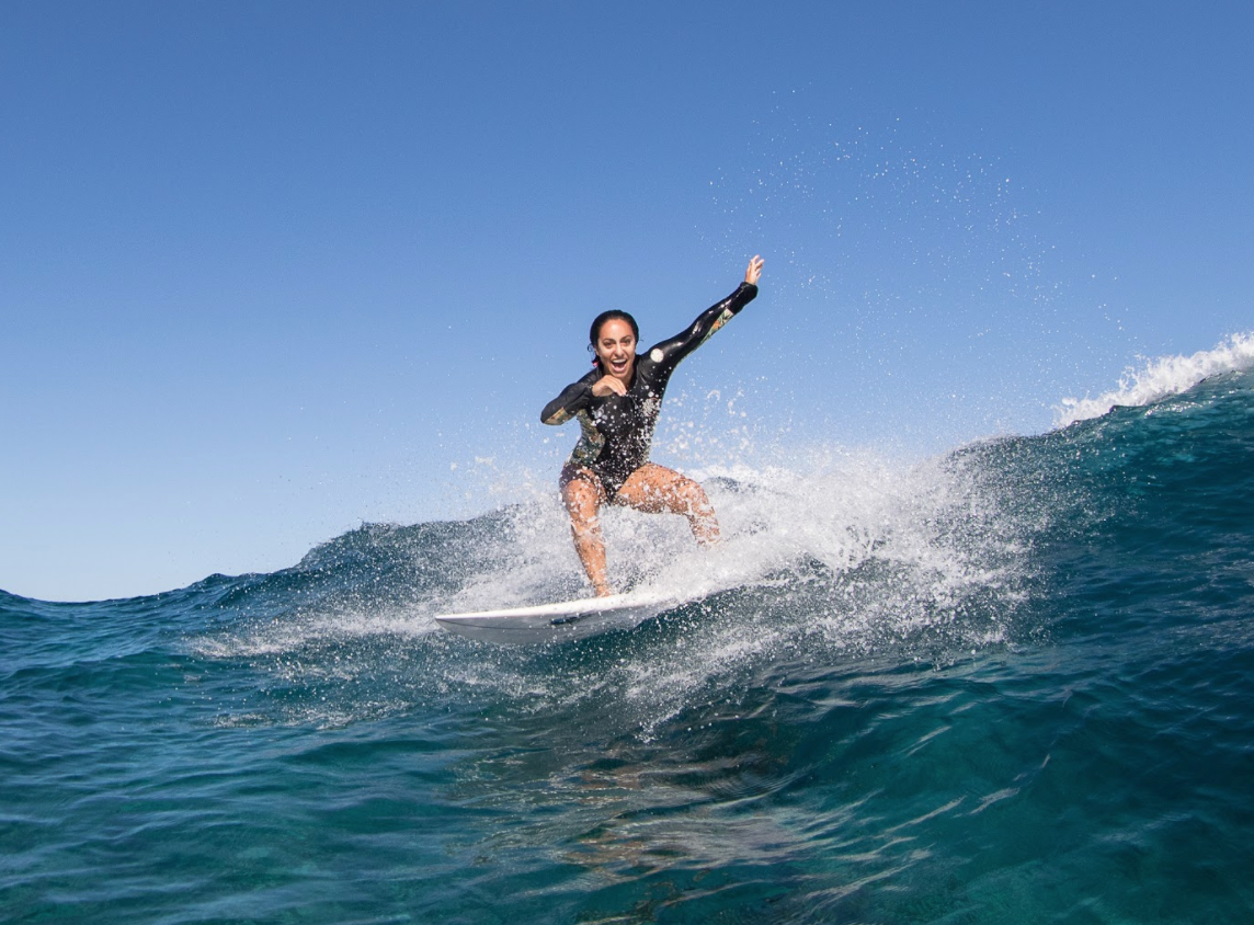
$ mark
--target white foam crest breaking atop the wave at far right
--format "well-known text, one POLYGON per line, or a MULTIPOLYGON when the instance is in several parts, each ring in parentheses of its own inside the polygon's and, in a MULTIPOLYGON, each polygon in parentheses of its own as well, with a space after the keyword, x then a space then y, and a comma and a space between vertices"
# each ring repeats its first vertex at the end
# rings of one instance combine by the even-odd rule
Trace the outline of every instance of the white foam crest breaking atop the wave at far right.
POLYGON ((1129 367, 1120 376, 1117 389, 1096 399, 1063 399, 1055 409, 1053 424, 1066 427, 1101 417, 1116 405, 1149 405, 1179 395, 1210 376, 1250 366, 1254 366, 1254 332, 1230 335, 1214 348, 1193 356, 1165 356, 1147 361, 1139 370, 1129 367))

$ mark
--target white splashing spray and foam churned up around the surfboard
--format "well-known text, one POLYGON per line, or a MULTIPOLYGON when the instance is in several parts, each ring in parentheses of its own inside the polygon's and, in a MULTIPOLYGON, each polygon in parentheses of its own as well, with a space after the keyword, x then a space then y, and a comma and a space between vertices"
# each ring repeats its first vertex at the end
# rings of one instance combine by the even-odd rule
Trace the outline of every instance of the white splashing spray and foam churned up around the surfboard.
POLYGON ((1023 534, 1032 525, 986 484, 978 457, 904 463, 816 447, 781 465, 687 474, 705 483, 719 511, 717 549, 698 548, 680 516, 603 511, 621 589, 701 599, 682 624, 642 635, 613 661, 468 649, 435 628, 435 613, 588 593, 553 490, 504 509, 492 535, 468 540, 477 564, 453 593, 349 605, 335 598, 208 633, 193 648, 208 658, 248 658, 272 674, 296 704, 276 706, 280 722, 334 724, 354 711, 360 718, 409 703, 502 696, 528 712, 612 701, 616 716, 647 737, 693 703, 732 696, 746 673, 776 656, 860 657, 905 645, 928 657, 929 645, 998 644, 1022 597, 1023 534))

